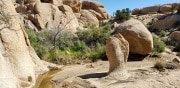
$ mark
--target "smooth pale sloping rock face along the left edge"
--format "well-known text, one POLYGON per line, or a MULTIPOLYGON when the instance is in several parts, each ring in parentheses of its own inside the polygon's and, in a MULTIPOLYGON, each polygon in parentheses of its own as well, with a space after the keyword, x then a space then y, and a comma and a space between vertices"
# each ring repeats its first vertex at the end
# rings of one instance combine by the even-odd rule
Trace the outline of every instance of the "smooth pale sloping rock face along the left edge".
POLYGON ((47 68, 31 47, 11 0, 0 0, 1 88, 31 88, 37 74, 47 68))

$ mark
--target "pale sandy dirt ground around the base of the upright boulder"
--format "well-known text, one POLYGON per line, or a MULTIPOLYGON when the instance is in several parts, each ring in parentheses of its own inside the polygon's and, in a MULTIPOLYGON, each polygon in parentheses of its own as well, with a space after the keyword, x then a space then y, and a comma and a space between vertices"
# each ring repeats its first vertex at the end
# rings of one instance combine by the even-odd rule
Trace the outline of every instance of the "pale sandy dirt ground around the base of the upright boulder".
MULTIPOLYGON (((158 58, 168 61, 174 55, 162 54, 158 58)), ((180 88, 180 69, 158 71, 154 68, 155 59, 129 61, 126 67, 130 77, 126 80, 106 78, 108 61, 63 66, 46 80, 51 84, 47 88, 180 88)))

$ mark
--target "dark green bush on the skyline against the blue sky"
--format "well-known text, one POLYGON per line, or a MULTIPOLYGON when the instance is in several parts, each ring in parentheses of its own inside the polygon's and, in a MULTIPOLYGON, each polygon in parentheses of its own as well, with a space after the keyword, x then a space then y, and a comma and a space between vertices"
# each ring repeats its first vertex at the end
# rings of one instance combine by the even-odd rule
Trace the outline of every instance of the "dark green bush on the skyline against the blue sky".
POLYGON ((129 8, 116 10, 115 18, 121 21, 130 19, 130 10, 129 8))

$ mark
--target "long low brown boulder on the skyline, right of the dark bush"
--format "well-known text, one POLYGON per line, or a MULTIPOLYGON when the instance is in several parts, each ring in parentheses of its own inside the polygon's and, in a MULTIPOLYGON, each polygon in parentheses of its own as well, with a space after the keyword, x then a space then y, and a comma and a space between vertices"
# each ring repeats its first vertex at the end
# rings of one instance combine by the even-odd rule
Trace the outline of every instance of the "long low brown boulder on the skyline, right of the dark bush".
POLYGON ((159 11, 159 8, 160 8, 160 6, 144 7, 140 10, 140 14, 157 13, 159 11))

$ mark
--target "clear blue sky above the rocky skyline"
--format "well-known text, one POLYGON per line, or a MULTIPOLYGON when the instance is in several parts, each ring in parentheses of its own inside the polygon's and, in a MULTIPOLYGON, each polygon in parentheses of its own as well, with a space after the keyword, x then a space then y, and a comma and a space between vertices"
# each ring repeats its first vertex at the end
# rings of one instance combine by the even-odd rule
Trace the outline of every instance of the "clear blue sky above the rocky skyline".
POLYGON ((152 5, 161 5, 167 3, 180 2, 180 0, 93 0, 102 3, 109 14, 113 14, 118 9, 130 8, 142 8, 152 5))

